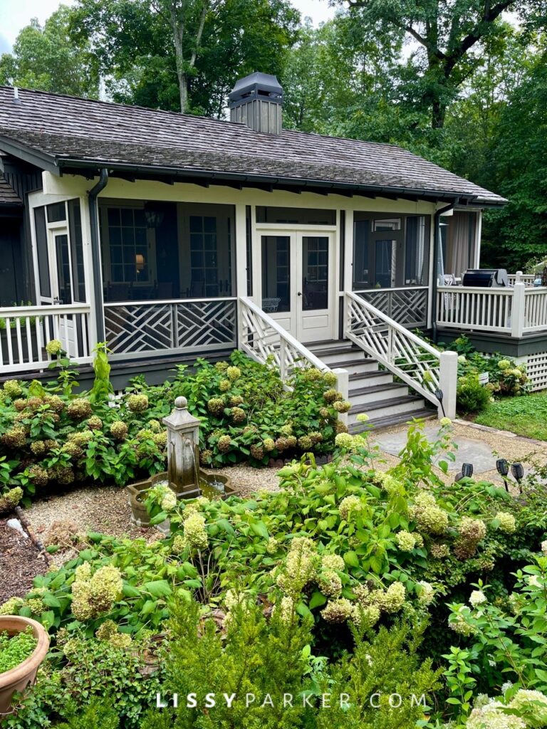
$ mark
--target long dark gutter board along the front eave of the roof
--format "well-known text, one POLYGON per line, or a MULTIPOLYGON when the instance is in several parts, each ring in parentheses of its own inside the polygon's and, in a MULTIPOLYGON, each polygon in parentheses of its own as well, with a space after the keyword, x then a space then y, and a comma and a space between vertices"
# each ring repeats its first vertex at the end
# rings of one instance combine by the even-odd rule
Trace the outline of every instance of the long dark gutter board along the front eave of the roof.
MULTIPOLYGON (((460 200, 468 199, 470 202, 476 202, 477 196, 470 195, 469 193, 462 192, 441 192, 438 190, 421 190, 412 189, 408 187, 385 187, 381 185, 362 185, 362 184, 350 184, 347 182, 326 182, 325 180, 314 180, 314 179, 299 179, 293 177, 279 177, 279 176, 265 176, 265 175, 252 175, 234 172, 214 172, 210 170, 197 170, 197 169, 183 169, 176 167, 156 167, 153 165, 132 165, 131 163, 109 163, 105 160, 78 160, 72 157, 56 157, 55 161, 58 168, 66 170, 96 170, 98 168, 107 167, 112 171, 121 172, 133 172, 136 175, 148 175, 155 176, 155 179, 159 179, 160 176, 168 176, 173 179, 178 179, 179 182, 184 181, 188 178, 195 179, 207 179, 211 184, 225 184, 226 182, 238 182, 241 187, 244 187, 244 183, 247 182, 247 186, 251 187, 255 184, 273 184, 273 185, 284 185, 291 187, 302 187, 303 192, 319 192, 319 194, 336 194, 338 190, 347 190, 353 192, 382 197, 382 192, 391 195, 394 199, 402 198, 405 196, 411 200, 420 200, 424 196, 431 200, 460 200), (310 188, 315 188, 311 190, 310 188), (318 190, 319 189, 319 190, 318 190), (323 192, 323 190, 325 192, 323 192)), ((199 184, 196 182, 195 184, 199 184)), ((494 203, 495 205, 495 203, 494 203)))

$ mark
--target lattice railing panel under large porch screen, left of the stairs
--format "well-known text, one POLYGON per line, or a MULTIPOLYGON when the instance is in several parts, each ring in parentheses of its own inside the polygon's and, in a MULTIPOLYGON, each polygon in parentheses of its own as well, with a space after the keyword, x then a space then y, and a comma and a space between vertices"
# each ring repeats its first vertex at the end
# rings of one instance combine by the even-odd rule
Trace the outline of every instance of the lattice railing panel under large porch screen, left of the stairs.
POLYGON ((111 357, 236 348, 236 302, 232 297, 220 297, 105 303, 104 326, 111 357))

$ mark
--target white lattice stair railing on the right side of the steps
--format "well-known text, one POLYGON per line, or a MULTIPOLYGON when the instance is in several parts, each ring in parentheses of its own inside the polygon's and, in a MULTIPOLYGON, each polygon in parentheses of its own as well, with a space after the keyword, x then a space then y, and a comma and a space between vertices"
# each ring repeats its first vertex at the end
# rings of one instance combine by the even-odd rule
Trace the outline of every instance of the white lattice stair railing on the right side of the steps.
POLYGON ((345 336, 434 403, 443 392, 446 416, 456 414, 457 354, 441 352, 353 292, 345 293, 345 336))

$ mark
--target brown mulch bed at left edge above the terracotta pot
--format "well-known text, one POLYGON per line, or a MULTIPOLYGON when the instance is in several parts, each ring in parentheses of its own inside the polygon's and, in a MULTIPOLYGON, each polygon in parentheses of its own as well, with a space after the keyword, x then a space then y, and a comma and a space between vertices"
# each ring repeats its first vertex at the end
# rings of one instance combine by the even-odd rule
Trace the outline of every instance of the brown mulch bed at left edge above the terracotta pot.
POLYGON ((28 539, 7 526, 9 518, 15 518, 15 514, 0 519, 0 604, 10 597, 24 597, 36 574, 44 574, 48 567, 47 557, 26 529, 28 539))

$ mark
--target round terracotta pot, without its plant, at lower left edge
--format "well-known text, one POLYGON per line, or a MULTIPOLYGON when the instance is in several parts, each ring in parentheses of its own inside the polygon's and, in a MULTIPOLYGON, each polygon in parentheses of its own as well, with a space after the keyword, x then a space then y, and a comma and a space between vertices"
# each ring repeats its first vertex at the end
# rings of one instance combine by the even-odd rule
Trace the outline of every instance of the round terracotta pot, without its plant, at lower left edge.
POLYGON ((4 671, 3 674, 0 674, 0 723, 6 714, 11 714, 9 706, 15 691, 24 691, 27 686, 34 684, 36 671, 50 647, 50 636, 40 623, 36 623, 36 620, 18 615, 0 616, 0 633, 7 632, 9 635, 16 635, 25 631, 29 625, 38 644, 34 653, 23 660, 23 663, 15 666, 11 671, 4 671))

